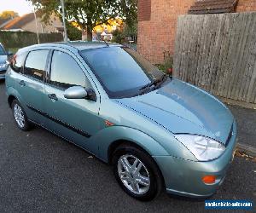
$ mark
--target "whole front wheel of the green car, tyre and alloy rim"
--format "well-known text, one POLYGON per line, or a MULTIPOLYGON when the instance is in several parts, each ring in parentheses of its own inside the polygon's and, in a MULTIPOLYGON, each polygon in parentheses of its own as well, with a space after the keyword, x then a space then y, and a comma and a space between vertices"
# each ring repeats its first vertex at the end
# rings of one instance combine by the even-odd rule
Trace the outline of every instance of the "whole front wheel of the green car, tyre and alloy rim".
POLYGON ((112 163, 116 180, 132 198, 149 201, 161 193, 163 178, 160 170, 154 159, 142 149, 129 144, 121 145, 113 152, 112 163), (125 168, 124 164, 128 166, 125 168))

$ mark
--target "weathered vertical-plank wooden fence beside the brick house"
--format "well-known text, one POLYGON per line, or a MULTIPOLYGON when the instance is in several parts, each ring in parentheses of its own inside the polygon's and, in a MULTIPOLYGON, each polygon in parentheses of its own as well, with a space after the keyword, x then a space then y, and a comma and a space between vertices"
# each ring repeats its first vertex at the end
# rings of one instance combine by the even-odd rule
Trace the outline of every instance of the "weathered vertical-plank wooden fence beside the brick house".
POLYGON ((173 75, 213 95, 256 103, 256 12, 177 20, 173 75))

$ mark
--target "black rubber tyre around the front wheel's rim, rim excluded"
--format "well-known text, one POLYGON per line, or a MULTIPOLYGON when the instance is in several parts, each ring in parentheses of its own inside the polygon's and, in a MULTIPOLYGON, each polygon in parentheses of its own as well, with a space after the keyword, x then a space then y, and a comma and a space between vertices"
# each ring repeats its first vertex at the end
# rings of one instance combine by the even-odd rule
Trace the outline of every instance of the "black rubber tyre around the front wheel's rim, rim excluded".
POLYGON ((138 149, 137 147, 119 147, 114 153, 113 153, 113 173, 116 178, 116 180, 119 182, 120 187, 123 188, 125 193, 128 193, 131 197, 135 199, 139 199, 142 201, 149 201, 154 199, 161 191, 161 180, 160 180, 160 174, 159 171, 154 163, 154 160, 147 154, 144 153, 142 150, 138 149), (125 154, 131 154, 137 158, 139 158, 143 164, 148 169, 149 178, 150 178, 150 187, 147 193, 144 193, 143 195, 139 195, 136 193, 132 193, 128 188, 125 187, 124 183, 119 178, 118 173, 118 160, 119 157, 125 154))

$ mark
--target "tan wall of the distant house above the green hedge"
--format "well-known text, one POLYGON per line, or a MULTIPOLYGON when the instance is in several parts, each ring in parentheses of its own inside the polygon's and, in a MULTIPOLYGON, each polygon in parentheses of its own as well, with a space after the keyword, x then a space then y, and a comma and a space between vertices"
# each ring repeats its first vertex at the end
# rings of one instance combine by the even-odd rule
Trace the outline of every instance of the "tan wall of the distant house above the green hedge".
MULTIPOLYGON (((56 26, 62 26, 61 20, 58 17, 55 17, 54 15, 51 15, 49 24, 44 24, 44 22, 41 21, 41 18, 39 17, 37 18, 37 22, 39 33, 56 32, 56 26)), ((22 26, 22 30, 28 32, 37 32, 36 21, 32 20, 25 26, 22 26)))

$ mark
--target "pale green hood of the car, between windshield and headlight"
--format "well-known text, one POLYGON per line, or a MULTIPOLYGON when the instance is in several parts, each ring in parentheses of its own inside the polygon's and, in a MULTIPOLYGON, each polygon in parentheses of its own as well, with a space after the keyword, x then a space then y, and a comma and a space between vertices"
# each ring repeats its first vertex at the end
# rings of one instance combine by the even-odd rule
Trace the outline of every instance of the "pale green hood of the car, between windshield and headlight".
POLYGON ((222 102, 176 78, 148 94, 116 101, 174 134, 204 135, 224 144, 234 122, 222 102))

